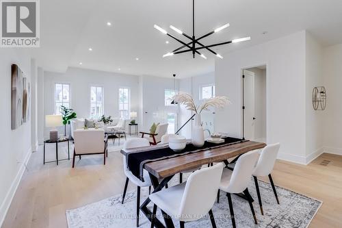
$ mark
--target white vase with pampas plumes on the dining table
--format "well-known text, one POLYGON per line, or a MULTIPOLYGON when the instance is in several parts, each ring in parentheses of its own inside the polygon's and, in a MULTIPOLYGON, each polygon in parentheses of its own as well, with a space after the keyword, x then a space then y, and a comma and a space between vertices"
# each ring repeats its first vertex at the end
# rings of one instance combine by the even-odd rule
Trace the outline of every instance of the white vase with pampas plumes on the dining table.
POLYGON ((192 144, 195 147, 202 147, 205 144, 205 134, 202 123, 200 121, 200 114, 203 110, 209 110, 209 107, 224 107, 231 103, 227 97, 217 96, 210 99, 205 99, 200 105, 196 105, 192 95, 187 92, 179 92, 179 94, 172 97, 174 102, 185 105, 187 110, 195 112, 195 124, 192 127, 192 144))

